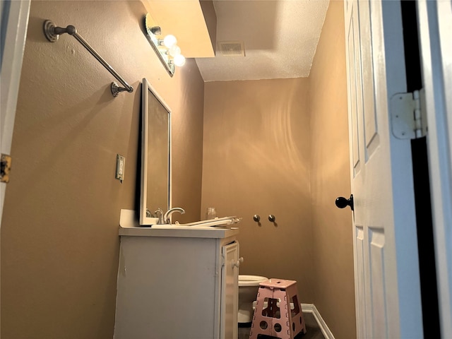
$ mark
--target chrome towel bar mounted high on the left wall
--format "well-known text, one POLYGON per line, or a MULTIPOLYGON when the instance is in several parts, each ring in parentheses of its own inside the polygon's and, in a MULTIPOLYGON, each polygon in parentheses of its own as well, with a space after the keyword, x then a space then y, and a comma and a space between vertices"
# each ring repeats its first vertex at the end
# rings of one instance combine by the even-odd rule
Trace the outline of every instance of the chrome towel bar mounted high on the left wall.
POLYGON ((107 61, 105 61, 96 51, 93 49, 93 47, 86 42, 81 35, 78 34, 77 29, 73 25, 69 25, 66 28, 57 27, 52 23, 51 20, 45 20, 44 21, 44 35, 47 37, 47 40, 49 42, 56 42, 58 40, 58 37, 60 34, 68 33, 69 35, 72 35, 76 38, 78 42, 80 42, 85 49, 88 49, 88 52, 93 54, 93 57, 97 59, 97 61, 102 64, 102 66, 107 69, 110 73, 112 73, 112 76, 117 78, 117 80, 124 85, 124 87, 119 87, 117 83, 113 82, 112 85, 110 85, 110 90, 112 90, 112 95, 114 97, 117 97, 117 95, 121 92, 124 92, 125 90, 129 93, 133 92, 133 87, 126 83, 126 81, 121 78, 121 76, 117 73, 117 71, 114 71, 112 66, 110 66, 107 61))

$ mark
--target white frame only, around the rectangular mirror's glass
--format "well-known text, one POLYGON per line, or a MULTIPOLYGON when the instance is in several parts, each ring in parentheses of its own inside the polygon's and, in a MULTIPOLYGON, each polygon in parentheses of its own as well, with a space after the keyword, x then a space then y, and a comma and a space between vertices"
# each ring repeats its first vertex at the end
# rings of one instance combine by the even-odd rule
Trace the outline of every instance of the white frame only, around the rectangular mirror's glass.
MULTIPOLYGON (((149 123, 149 96, 153 95, 168 112, 168 168, 167 168, 167 189, 168 189, 168 201, 167 206, 162 208, 171 207, 172 201, 172 161, 171 161, 171 109, 160 97, 155 88, 148 82, 146 78, 143 78, 141 84, 141 192, 140 192, 140 226, 156 225, 158 218, 151 218, 146 216, 146 206, 148 203, 148 141, 150 136, 148 135, 148 123, 149 123)), ((163 210, 165 213, 166 210, 163 210)), ((153 213, 153 211, 151 211, 153 213)))

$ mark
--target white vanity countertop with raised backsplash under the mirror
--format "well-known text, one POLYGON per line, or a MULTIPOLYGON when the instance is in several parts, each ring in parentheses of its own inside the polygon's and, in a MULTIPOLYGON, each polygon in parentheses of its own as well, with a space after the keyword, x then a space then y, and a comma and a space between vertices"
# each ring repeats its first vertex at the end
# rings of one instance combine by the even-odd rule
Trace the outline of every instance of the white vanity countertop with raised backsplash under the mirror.
POLYGON ((238 227, 153 225, 141 227, 133 210, 121 210, 119 235, 129 237, 227 238, 239 234, 238 227))

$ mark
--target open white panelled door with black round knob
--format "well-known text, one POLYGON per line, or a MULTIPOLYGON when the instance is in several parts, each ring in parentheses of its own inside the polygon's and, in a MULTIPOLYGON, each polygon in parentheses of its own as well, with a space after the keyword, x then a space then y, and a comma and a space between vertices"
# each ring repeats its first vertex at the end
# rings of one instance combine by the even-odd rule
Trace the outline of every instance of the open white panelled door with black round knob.
POLYGON ((391 133, 406 92, 399 1, 345 1, 358 338, 422 338, 409 140, 391 133))

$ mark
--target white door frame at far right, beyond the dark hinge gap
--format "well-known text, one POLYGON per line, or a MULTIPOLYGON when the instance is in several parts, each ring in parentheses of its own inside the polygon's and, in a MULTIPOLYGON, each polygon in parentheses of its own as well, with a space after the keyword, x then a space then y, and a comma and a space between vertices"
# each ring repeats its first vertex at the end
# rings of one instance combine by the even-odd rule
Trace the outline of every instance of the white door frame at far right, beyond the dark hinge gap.
POLYGON ((452 1, 417 2, 441 338, 452 338, 452 1))

